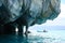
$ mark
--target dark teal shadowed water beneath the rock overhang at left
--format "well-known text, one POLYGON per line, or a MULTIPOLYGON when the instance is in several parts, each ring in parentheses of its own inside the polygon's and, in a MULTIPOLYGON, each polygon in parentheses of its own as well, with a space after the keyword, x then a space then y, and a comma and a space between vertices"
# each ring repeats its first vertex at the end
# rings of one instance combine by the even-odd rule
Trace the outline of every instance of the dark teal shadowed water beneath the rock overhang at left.
POLYGON ((22 34, 0 35, 0 43, 28 43, 27 37, 22 34))

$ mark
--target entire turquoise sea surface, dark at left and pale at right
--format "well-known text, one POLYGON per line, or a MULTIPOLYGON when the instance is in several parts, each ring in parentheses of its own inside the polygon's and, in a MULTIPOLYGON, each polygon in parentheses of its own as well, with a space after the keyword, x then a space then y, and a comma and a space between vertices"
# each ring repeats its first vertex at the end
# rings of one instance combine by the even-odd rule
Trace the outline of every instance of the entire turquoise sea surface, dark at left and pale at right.
POLYGON ((0 35, 0 43, 65 43, 65 30, 0 35))

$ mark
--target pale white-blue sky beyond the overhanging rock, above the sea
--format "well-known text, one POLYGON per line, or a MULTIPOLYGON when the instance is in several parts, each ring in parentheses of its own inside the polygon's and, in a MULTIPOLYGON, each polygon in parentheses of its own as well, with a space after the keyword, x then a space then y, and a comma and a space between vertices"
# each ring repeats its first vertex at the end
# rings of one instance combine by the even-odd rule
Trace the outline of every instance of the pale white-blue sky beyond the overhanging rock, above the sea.
POLYGON ((65 0, 61 0, 61 13, 54 20, 48 20, 46 24, 31 26, 29 30, 41 30, 42 28, 65 29, 65 0))

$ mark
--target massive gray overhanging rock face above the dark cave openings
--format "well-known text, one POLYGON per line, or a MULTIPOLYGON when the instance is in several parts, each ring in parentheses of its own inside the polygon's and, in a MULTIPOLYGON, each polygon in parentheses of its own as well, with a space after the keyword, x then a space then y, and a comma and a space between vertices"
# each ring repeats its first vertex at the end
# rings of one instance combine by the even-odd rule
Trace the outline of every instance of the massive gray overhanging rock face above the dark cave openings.
POLYGON ((0 26, 32 26, 53 20, 61 12, 61 0, 0 0, 0 26))

